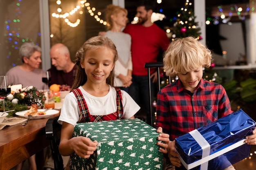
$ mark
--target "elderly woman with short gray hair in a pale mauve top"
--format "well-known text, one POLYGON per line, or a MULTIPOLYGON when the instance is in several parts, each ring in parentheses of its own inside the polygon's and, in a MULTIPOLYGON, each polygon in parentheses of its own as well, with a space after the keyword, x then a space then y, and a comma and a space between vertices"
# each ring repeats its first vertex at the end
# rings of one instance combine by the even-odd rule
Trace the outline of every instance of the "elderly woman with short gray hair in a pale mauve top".
POLYGON ((42 82, 45 72, 39 68, 41 60, 41 48, 32 43, 24 43, 20 47, 22 65, 11 68, 6 76, 9 76, 12 84, 22 84, 23 87, 34 86, 37 89, 47 89, 42 82))

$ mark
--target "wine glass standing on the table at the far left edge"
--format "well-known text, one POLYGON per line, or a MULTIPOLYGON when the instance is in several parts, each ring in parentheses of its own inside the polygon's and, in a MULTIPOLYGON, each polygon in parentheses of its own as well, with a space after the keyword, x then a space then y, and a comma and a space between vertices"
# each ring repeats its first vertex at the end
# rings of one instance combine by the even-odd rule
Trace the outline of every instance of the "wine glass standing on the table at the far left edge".
POLYGON ((8 76, 0 76, 0 97, 3 99, 3 111, 5 111, 4 98, 11 93, 11 85, 8 76))

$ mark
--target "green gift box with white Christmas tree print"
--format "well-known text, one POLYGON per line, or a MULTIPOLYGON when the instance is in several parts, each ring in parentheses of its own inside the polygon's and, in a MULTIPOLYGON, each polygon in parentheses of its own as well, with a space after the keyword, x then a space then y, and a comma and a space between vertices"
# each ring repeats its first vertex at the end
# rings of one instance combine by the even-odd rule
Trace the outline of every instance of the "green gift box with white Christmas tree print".
POLYGON ((73 136, 97 140, 97 150, 88 159, 76 153, 72 168, 79 170, 162 170, 159 133, 142 120, 124 119, 79 123, 73 136))

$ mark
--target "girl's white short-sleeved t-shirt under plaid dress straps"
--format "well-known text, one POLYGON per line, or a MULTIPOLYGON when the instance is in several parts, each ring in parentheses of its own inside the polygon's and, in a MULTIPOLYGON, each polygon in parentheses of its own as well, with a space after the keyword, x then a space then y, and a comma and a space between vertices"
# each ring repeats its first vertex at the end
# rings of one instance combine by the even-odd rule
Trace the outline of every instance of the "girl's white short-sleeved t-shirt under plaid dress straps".
MULTIPOLYGON (((90 115, 108 115, 117 111, 117 91, 114 87, 110 86, 108 94, 103 97, 92 96, 81 86, 79 89, 85 98, 90 115)), ((129 119, 130 117, 134 116, 137 111, 139 111, 140 107, 127 92, 121 90, 121 94, 124 108, 123 118, 129 119)), ((77 103, 77 99, 74 93, 70 92, 63 100, 61 115, 58 119, 58 123, 62 124, 62 122, 67 122, 75 126, 81 118, 82 115, 77 103)))

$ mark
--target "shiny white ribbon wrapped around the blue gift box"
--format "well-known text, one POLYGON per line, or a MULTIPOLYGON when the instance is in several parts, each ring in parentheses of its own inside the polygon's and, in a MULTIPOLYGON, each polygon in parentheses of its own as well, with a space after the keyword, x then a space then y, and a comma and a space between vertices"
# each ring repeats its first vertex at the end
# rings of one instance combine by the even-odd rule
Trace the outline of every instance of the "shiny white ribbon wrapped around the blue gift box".
MULTIPOLYGON (((214 159, 214 158, 216 158, 216 157, 218 157, 220 155, 223 155, 223 154, 229 152, 230 150, 233 150, 233 149, 235 149, 235 148, 245 144, 245 139, 242 139, 242 140, 236 142, 235 144, 232 144, 232 145, 228 146, 227 148, 222 149, 222 150, 220 150, 220 151, 210 155, 211 146, 207 142, 207 140, 204 139, 204 137, 201 135, 201 133, 198 130, 196 130, 196 129, 191 131, 191 132, 189 132, 189 133, 195 139, 195 141, 198 142, 199 146, 202 148, 202 159, 200 159, 198 161, 195 161, 193 163, 190 163, 190 164, 186 164, 186 162, 180 156, 179 159, 180 159, 181 163, 183 164, 183 166, 187 170, 195 168, 196 166, 199 166, 199 165, 201 165, 200 170, 207 170, 208 169, 208 162, 211 159, 214 159)), ((177 150, 176 150, 176 153, 178 153, 177 150)))

